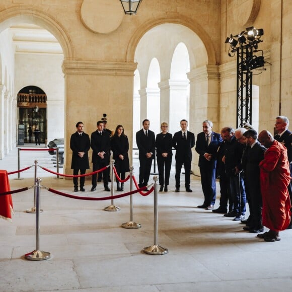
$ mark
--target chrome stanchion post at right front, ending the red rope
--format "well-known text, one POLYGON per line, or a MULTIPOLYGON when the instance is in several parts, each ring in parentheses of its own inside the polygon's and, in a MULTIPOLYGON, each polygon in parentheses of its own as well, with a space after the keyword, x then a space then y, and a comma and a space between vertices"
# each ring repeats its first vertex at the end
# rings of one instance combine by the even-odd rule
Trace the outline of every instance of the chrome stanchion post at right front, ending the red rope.
POLYGON ((157 200, 157 180, 158 176, 154 176, 154 245, 144 247, 143 252, 154 255, 168 253, 168 249, 158 245, 158 200, 157 200))

